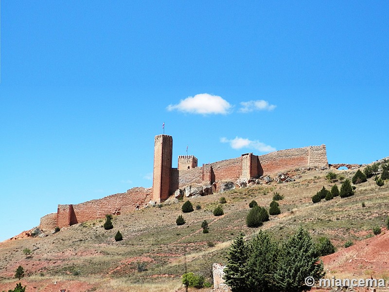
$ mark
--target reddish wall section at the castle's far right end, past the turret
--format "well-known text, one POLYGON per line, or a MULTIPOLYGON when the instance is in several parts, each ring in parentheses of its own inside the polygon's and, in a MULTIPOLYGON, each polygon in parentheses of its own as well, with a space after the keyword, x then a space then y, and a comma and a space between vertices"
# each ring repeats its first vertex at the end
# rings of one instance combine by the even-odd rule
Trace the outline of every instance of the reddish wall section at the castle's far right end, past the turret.
POLYGON ((258 156, 264 174, 303 166, 327 166, 325 146, 309 146, 279 150, 258 156))

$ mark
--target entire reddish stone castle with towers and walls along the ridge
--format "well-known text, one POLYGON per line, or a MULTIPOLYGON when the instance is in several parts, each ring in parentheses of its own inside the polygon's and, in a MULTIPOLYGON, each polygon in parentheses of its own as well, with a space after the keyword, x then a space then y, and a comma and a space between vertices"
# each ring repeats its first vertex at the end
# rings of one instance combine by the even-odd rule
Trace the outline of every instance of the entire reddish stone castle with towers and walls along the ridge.
POLYGON ((265 155, 252 153, 214 163, 197 165, 193 155, 178 156, 178 167, 172 168, 173 137, 157 135, 154 141, 153 187, 135 187, 125 193, 80 204, 58 205, 57 212, 40 219, 39 228, 53 230, 91 219, 104 218, 106 214, 127 213, 146 207, 150 201, 161 202, 175 191, 186 186, 210 186, 218 191, 226 181, 259 178, 286 169, 304 166, 328 167, 325 145, 279 150, 265 155))

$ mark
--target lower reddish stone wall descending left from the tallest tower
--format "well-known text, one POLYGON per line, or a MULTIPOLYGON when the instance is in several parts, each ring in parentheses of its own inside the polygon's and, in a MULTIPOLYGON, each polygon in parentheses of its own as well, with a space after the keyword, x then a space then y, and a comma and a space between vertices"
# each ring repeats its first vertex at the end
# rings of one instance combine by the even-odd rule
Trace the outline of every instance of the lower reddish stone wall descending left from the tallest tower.
POLYGON ((126 193, 110 195, 98 200, 75 205, 58 205, 57 226, 66 227, 92 219, 104 218, 106 214, 122 214, 143 208, 151 200, 151 188, 135 187, 126 193))

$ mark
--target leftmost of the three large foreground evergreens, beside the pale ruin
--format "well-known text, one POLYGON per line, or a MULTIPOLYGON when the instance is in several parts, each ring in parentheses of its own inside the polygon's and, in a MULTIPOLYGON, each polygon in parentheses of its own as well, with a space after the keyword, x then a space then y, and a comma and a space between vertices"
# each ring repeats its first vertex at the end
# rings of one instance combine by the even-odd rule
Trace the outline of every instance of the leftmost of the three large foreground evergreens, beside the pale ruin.
MULTIPOLYGON (((255 208, 255 207, 254 207, 255 208)), ((243 234, 235 238, 227 255, 227 265, 224 269, 224 280, 230 286, 231 292, 250 292, 248 286, 247 245, 243 234)))

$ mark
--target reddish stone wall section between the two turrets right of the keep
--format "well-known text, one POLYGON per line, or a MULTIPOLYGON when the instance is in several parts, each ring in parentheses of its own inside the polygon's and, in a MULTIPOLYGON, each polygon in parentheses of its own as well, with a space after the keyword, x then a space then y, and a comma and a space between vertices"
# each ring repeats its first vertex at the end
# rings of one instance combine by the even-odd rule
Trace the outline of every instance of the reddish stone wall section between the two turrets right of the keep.
POLYGON ((232 180, 240 178, 242 174, 242 158, 232 158, 212 163, 215 181, 232 180))

